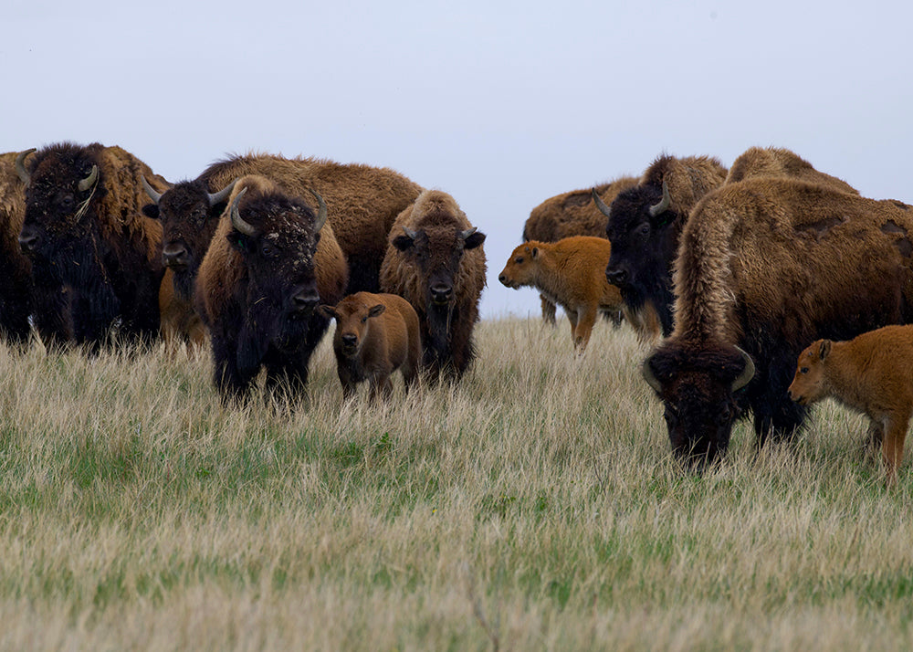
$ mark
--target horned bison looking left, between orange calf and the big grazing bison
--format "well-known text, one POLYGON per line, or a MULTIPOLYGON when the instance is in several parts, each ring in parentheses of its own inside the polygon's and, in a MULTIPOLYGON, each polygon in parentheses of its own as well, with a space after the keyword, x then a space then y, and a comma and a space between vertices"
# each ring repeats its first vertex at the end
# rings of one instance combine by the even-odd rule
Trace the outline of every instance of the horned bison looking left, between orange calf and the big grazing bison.
POLYGON ((652 304, 663 335, 672 331, 672 264, 678 238, 691 208, 726 179, 726 168, 708 156, 660 156, 640 183, 615 197, 611 207, 593 193, 608 217, 606 235, 612 258, 605 268, 609 282, 622 290, 628 307, 639 312, 652 304))

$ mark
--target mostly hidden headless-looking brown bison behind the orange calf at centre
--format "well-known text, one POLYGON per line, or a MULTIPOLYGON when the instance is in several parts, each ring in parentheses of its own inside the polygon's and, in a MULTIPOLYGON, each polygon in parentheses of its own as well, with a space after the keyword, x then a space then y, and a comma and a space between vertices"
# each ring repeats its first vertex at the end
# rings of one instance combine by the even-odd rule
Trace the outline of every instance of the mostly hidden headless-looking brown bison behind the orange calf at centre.
MULTIPOLYGON (((597 185, 595 191, 605 204, 612 204, 616 195, 634 187, 637 179, 623 176, 607 184, 597 185)), ((557 242, 565 237, 605 237, 605 216, 593 203, 589 190, 572 190, 546 199, 530 212, 530 218, 523 225, 523 242, 557 242)), ((542 320, 555 323, 555 304, 544 295, 542 320)), ((612 315, 614 318, 614 314, 612 315)))

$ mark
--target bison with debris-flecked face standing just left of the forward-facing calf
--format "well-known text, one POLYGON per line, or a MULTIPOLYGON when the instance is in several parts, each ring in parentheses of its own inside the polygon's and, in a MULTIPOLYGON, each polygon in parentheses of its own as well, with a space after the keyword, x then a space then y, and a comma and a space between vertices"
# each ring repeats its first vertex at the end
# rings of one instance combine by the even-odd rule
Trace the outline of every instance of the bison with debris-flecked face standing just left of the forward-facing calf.
POLYGON ((342 299, 348 269, 327 208, 288 195, 264 177, 235 184, 200 263, 195 305, 209 328, 214 382, 223 400, 247 395, 262 367, 268 389, 299 393, 329 321, 314 313, 342 299), (288 385, 278 387, 281 381, 288 385))

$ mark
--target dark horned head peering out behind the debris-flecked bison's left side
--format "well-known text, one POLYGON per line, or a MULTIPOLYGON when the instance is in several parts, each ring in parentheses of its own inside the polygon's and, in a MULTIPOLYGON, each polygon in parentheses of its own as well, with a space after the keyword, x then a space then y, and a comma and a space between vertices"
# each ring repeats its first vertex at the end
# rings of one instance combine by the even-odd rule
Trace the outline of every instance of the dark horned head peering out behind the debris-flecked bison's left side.
POLYGON ((152 199, 142 212, 162 222, 162 263, 172 269, 174 289, 184 300, 193 296, 196 272, 235 183, 210 193, 203 181, 184 181, 159 194, 142 179, 142 187, 152 199))

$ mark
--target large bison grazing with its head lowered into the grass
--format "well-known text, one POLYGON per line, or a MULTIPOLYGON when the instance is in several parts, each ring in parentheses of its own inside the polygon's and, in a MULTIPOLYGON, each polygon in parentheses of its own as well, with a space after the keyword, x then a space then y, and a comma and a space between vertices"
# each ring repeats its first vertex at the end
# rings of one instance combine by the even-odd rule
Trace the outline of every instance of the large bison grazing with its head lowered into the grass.
POLYGON ((911 238, 910 206, 818 185, 758 178, 706 196, 682 233, 676 329, 642 368, 677 455, 717 457, 742 407, 759 447, 792 435, 799 352, 913 318, 911 238))

